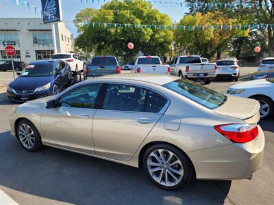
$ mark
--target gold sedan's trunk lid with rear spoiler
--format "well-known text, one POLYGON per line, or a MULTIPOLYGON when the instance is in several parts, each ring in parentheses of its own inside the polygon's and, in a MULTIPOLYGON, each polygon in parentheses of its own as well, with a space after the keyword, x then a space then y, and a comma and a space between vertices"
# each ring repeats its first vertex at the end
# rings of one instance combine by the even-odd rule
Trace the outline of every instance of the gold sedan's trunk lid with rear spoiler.
MULTIPOLYGON (((258 115, 260 103, 249 98, 227 96, 227 101, 221 107, 214 109, 214 111, 220 115, 246 120, 258 115)), ((256 118, 255 121, 258 121, 258 119, 256 118)))

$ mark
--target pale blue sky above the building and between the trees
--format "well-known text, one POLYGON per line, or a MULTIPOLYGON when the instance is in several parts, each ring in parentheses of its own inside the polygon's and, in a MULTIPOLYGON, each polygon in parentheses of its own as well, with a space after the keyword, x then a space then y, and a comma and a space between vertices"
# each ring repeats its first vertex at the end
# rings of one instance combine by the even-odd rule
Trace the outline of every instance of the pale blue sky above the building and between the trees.
MULTIPOLYGON (((34 5, 37 8, 41 8, 40 0, 24 0, 27 1, 30 5, 34 5)), ((112 0, 114 1, 114 0, 112 0)), ((120 0, 119 0, 120 1, 120 0)), ((167 0, 151 0, 151 1, 167 1, 167 0)), ((183 0, 169 0, 173 2, 182 2, 183 0)), ((19 1, 20 2, 20 1, 19 1)), ((107 3, 108 0, 62 0, 62 13, 63 13, 63 21, 66 23, 66 27, 73 33, 73 36, 77 36, 77 30, 73 25, 73 19, 75 15, 84 10, 85 8, 100 8, 101 5, 107 3), (98 2, 99 1, 99 2, 98 2)), ((160 12, 169 14, 171 19, 174 21, 179 21, 183 16, 184 12, 186 12, 186 8, 183 5, 183 8, 180 5, 175 3, 153 3, 153 8, 158 9, 160 12)), ((23 6, 19 3, 17 5, 13 0, 0 0, 0 18, 35 18, 40 17, 34 12, 27 10, 27 7, 23 8, 23 6)), ((130 22, 129 22, 130 23, 130 22)), ((0 25, 1 29, 1 25, 0 25)))

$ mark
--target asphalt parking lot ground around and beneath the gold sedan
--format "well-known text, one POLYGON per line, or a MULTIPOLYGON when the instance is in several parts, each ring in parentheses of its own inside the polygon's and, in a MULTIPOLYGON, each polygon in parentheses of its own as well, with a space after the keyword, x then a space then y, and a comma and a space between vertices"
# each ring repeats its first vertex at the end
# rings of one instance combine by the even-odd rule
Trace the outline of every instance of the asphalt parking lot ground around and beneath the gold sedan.
MULTIPOLYGON (((240 81, 256 68, 241 68, 240 81)), ((122 71, 129 72, 129 71, 122 71)), ((262 168, 252 180, 193 180, 165 191, 140 169, 55 148, 30 153, 10 135, 5 97, 12 72, 0 72, 0 189, 18 204, 273 204, 274 118, 260 122, 266 137, 262 168)), ((240 82, 239 81, 239 82, 240 82)), ((207 87, 226 92, 238 82, 214 81, 207 87)), ((1 195, 0 195, 1 198, 1 195)))

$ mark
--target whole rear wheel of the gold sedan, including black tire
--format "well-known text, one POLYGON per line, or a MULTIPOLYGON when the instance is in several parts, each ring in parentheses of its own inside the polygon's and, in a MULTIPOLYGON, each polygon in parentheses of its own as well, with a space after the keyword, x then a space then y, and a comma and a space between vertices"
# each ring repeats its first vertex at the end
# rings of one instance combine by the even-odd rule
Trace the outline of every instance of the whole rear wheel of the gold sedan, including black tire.
POLYGON ((194 174, 188 157, 179 149, 165 143, 149 147, 143 155, 142 165, 147 176, 159 187, 167 190, 184 187, 194 174))

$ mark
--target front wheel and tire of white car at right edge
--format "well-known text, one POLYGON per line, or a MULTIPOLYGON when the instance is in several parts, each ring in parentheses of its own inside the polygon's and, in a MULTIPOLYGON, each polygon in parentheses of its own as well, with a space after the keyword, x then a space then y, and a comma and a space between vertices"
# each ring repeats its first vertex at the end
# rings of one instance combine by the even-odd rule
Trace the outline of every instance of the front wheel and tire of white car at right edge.
POLYGON ((266 98, 264 96, 254 96, 251 97, 255 100, 258 100, 260 102, 260 115, 261 120, 267 119, 271 117, 274 114, 274 102, 271 101, 269 98, 266 98), (265 106, 262 108, 262 106, 265 106))

